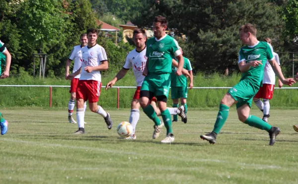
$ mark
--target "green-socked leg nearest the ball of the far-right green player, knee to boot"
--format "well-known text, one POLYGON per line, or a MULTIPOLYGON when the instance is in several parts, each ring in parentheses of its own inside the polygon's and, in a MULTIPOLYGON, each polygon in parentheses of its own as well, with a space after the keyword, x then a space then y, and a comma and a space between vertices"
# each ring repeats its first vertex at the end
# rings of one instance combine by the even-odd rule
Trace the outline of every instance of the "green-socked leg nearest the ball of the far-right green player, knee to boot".
POLYGON ((220 110, 218 112, 213 131, 209 134, 201 135, 201 139, 209 141, 210 144, 216 143, 216 137, 220 133, 227 119, 229 107, 235 102, 236 100, 229 92, 224 95, 220 104, 220 110))

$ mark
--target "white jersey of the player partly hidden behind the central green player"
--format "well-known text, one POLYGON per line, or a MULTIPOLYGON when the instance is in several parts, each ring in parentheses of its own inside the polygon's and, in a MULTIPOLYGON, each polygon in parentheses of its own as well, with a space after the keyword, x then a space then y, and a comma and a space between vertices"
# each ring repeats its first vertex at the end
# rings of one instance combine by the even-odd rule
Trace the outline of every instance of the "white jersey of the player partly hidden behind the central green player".
POLYGON ((136 49, 134 49, 126 56, 126 61, 123 68, 133 68, 138 87, 142 86, 145 78, 145 76, 143 76, 143 72, 146 67, 146 62, 146 47, 141 52, 138 52, 136 49))

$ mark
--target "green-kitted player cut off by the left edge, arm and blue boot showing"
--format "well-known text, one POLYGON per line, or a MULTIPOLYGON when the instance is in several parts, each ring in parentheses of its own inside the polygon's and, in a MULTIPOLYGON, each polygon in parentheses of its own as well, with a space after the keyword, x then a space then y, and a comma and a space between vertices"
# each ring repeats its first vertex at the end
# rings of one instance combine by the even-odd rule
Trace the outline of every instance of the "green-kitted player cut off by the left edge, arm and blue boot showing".
MULTIPOLYGON (((4 47, 4 43, 1 42, 0 40, 0 74, 1 74, 1 79, 5 79, 9 77, 9 68, 10 68, 10 63, 11 63, 11 55, 4 47), (5 61, 5 70, 1 74, 1 61, 5 61)), ((0 112, 0 129, 1 129, 1 135, 4 135, 7 132, 8 128, 8 122, 3 118, 1 112, 0 112)))

